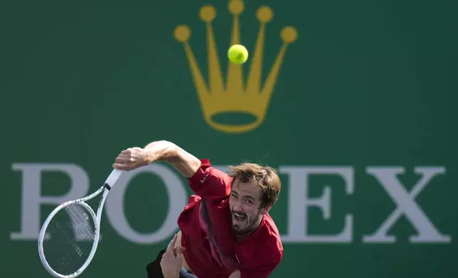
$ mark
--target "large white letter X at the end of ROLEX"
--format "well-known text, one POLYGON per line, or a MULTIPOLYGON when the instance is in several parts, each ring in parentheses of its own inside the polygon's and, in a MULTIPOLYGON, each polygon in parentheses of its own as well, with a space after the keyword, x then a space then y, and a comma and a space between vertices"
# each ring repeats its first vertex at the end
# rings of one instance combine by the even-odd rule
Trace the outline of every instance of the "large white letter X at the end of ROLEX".
POLYGON ((395 237, 388 235, 388 230, 399 220, 400 216, 410 221, 412 226, 417 230, 417 235, 410 237, 410 242, 413 243, 449 243, 450 237, 442 235, 439 230, 427 218, 422 208, 415 202, 415 198, 421 193, 427 184, 437 174, 444 174, 443 167, 415 167, 415 173, 421 174, 421 179, 415 184, 410 192, 408 192, 403 184, 396 177, 398 174, 403 174, 405 171, 402 167, 368 167, 368 174, 372 174, 388 195, 393 199, 396 208, 393 213, 386 218, 385 222, 372 235, 363 237, 363 242, 366 243, 394 243, 395 237))

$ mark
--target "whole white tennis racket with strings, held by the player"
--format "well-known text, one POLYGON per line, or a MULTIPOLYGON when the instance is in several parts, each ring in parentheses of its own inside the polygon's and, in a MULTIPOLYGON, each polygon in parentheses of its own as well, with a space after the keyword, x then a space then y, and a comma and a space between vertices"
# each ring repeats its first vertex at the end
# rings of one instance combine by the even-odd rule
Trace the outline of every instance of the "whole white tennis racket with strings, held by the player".
POLYGON ((46 218, 38 235, 38 255, 51 275, 77 277, 90 264, 99 243, 103 205, 122 172, 114 169, 97 191, 60 204, 46 218), (96 215, 86 202, 99 194, 102 199, 96 215))

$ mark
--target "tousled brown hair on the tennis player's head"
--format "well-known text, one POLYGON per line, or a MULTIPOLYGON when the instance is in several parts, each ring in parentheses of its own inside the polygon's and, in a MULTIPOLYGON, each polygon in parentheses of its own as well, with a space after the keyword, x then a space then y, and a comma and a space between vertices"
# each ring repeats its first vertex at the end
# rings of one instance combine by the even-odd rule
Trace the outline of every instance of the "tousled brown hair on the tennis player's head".
POLYGON ((257 165, 255 163, 241 163, 240 165, 229 166, 229 176, 238 178, 240 182, 257 182, 262 190, 261 206, 273 206, 278 200, 282 182, 277 170, 269 166, 257 165))

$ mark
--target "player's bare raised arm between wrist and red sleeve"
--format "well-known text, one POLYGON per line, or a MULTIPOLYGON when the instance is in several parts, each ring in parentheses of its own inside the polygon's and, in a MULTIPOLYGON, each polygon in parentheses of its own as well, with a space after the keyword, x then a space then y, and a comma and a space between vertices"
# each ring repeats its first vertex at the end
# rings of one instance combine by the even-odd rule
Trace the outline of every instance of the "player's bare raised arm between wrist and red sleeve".
POLYGON ((148 164, 154 161, 168 162, 188 178, 201 166, 201 160, 169 141, 149 143, 144 150, 148 152, 148 164))

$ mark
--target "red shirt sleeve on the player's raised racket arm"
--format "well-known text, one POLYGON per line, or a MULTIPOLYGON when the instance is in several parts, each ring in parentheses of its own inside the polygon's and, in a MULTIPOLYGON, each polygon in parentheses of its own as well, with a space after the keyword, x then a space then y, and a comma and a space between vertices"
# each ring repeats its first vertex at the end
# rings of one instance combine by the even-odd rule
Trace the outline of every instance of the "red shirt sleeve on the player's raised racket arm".
POLYGON ((193 191, 202 198, 229 196, 232 178, 211 166, 210 160, 201 160, 201 167, 188 179, 193 191))

